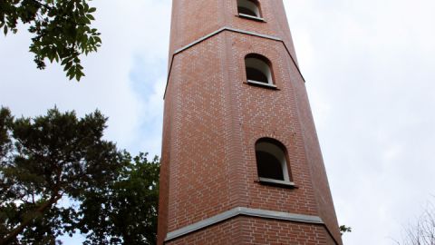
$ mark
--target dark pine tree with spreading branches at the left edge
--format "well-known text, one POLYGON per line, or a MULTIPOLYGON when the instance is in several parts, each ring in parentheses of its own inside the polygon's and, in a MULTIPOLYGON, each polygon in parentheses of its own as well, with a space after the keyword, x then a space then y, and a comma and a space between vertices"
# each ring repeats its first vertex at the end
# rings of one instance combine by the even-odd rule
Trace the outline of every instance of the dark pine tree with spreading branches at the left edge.
POLYGON ((116 180, 122 154, 102 140, 106 118, 99 112, 83 119, 55 108, 33 119, 12 119, 6 109, 0 115, 1 135, 7 138, 2 142, 14 142, 0 161, 0 216, 15 217, 0 219, 0 244, 18 235, 24 244, 53 240, 79 217, 57 202, 116 180))

